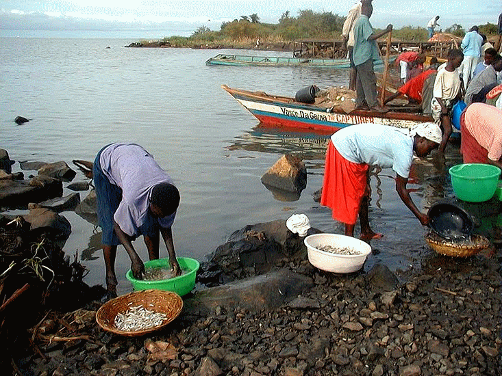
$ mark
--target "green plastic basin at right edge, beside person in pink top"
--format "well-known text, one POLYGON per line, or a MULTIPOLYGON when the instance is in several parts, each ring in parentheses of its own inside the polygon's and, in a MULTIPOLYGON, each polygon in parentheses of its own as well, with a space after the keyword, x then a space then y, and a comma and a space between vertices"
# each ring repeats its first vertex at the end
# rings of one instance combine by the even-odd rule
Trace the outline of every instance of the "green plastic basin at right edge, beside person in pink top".
POLYGON ((483 163, 455 165, 449 172, 455 195, 467 202, 490 200, 497 189, 501 174, 499 167, 483 163))

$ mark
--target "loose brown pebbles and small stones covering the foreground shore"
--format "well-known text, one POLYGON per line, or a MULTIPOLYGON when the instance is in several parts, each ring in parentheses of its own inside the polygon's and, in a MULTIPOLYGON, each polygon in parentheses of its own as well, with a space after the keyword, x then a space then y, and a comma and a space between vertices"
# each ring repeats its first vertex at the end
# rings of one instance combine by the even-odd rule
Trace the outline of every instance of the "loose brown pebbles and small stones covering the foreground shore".
MULTIPOLYGON (((243 229, 230 243, 235 248, 255 233, 243 229)), ((226 284, 253 290, 250 299, 202 289, 184 297, 181 315, 150 336, 104 332, 95 321, 97 301, 55 315, 51 330, 32 330, 36 352, 18 360, 18 369, 23 375, 501 375, 501 260, 494 248, 466 259, 431 252, 419 273, 399 282, 383 265, 326 273, 310 265, 305 250, 295 250, 258 277, 247 268, 250 276, 226 284), (283 291, 277 273, 293 281, 283 291), (271 299, 274 293, 282 301, 271 299)))

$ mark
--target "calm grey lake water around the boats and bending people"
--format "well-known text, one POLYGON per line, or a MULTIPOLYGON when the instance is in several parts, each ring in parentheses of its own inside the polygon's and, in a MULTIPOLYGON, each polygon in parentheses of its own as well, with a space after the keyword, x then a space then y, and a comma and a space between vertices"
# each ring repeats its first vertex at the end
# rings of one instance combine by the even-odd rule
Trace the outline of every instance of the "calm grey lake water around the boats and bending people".
MULTIPOLYGON (((347 85, 346 71, 205 66, 220 52, 290 53, 123 47, 132 41, 0 38, 0 147, 16 161, 71 165, 72 159, 92 161, 110 142, 141 144, 181 191, 173 226, 178 256, 203 261, 235 230, 294 213, 305 213, 312 226, 325 232, 341 233, 330 211, 312 200, 322 186, 326 138, 258 128, 221 85, 294 96, 313 83, 347 85), (18 126, 16 116, 32 121, 18 126), (286 152, 301 153, 308 168, 308 185, 296 201, 283 201, 260 183, 286 152)), ((447 167, 458 161, 455 146, 447 150, 446 166, 432 158, 418 161, 409 187, 419 207, 452 195, 447 167)), ((19 170, 18 163, 13 168, 19 170)), ((73 181, 79 180, 85 180, 80 172, 73 181)), ((382 171, 372 187, 373 229, 385 237, 373 241, 381 253, 368 258, 366 268, 376 262, 397 271, 418 267, 430 252, 424 246, 425 229, 399 200, 394 173, 382 171)), ((86 195, 81 192, 82 199, 86 195)), ((64 250, 78 252, 90 269, 88 283, 102 283, 99 228, 73 212, 63 215, 73 229, 64 250)), ((134 245, 146 260, 142 240, 134 245)), ((165 246, 161 256, 166 256, 165 246)), ((127 254, 119 252, 122 291, 130 288, 125 280, 129 266, 127 254)))

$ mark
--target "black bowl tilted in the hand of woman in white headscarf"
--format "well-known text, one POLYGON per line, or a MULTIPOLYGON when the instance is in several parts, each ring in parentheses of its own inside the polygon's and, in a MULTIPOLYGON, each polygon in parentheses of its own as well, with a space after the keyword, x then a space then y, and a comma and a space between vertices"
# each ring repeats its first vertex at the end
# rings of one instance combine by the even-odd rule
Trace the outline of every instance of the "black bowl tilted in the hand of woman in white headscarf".
POLYGON ((473 217, 456 204, 445 202, 434 204, 427 215, 431 229, 444 239, 462 239, 473 232, 473 217))

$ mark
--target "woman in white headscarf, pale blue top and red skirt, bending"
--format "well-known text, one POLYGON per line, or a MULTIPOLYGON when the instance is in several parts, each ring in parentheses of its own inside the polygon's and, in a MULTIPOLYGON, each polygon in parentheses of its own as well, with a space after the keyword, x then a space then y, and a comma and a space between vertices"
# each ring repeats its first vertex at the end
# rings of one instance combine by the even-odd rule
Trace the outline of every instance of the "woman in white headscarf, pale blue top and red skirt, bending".
POLYGON ((326 163, 321 205, 329 206, 333 219, 345 224, 345 235, 354 236, 359 216, 360 239, 379 239, 369 223, 368 205, 371 195, 369 167, 392 168, 396 172, 396 191, 403 203, 424 226, 429 217, 415 206, 406 189, 413 153, 426 157, 438 148, 442 139, 440 127, 421 123, 412 129, 398 129, 381 124, 355 124, 331 135, 326 163))

